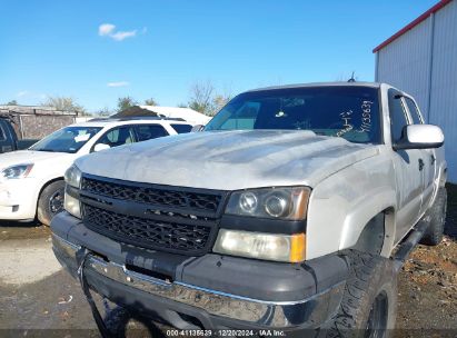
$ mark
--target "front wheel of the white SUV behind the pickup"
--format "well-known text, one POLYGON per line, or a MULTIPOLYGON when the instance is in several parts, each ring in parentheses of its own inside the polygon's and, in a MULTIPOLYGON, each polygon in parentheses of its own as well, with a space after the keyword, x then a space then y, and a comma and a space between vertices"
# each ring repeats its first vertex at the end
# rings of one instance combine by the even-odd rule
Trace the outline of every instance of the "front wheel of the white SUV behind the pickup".
POLYGON ((38 199, 37 216, 38 220, 44 226, 49 226, 52 217, 63 211, 63 180, 49 183, 41 191, 40 198, 38 199))

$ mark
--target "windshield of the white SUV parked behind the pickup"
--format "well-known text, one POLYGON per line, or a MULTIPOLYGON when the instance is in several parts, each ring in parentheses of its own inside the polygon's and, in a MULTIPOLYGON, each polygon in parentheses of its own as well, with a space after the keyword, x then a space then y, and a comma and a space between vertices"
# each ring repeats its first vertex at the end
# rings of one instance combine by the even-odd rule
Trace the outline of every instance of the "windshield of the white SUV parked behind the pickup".
POLYGON ((66 127, 47 136, 29 150, 74 153, 100 130, 100 127, 66 127))

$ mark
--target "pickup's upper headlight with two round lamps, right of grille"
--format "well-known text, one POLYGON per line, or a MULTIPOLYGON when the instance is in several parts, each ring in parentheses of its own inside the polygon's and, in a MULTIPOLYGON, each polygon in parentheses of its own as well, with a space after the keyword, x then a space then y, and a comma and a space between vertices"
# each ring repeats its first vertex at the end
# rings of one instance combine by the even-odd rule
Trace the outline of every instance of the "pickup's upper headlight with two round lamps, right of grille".
POLYGON ((310 189, 307 187, 262 188, 231 193, 226 213, 301 220, 306 218, 310 189))

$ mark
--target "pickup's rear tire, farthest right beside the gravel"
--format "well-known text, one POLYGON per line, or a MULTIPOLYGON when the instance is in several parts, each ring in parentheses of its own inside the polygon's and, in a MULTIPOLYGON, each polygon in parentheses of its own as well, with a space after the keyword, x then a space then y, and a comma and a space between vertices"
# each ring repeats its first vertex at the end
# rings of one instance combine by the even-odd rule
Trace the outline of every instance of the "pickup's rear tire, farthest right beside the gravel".
POLYGON ((446 210, 447 191, 446 188, 439 188, 434 205, 427 210, 426 218, 429 216, 430 221, 420 243, 437 246, 441 242, 445 232, 446 210))

